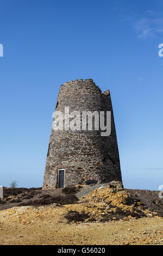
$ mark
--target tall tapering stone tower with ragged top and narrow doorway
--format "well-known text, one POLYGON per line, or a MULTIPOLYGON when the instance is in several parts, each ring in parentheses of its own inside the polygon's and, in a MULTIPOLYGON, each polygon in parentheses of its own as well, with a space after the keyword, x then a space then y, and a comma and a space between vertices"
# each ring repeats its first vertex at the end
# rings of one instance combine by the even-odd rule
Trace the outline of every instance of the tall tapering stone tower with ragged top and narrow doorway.
POLYGON ((79 181, 122 182, 109 90, 102 93, 91 79, 66 82, 60 86, 55 113, 64 113, 65 106, 70 112, 110 111, 111 133, 101 136, 101 130, 94 126, 92 131, 52 128, 42 188, 71 186, 79 181))

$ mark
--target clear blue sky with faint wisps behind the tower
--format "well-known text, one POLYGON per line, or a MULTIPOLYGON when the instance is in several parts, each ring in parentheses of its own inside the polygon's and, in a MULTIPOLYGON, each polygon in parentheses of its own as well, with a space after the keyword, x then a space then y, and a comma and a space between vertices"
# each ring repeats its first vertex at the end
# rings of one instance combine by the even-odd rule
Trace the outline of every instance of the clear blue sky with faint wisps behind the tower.
POLYGON ((123 184, 163 184, 162 0, 1 0, 0 184, 42 186, 62 83, 109 89, 123 184))

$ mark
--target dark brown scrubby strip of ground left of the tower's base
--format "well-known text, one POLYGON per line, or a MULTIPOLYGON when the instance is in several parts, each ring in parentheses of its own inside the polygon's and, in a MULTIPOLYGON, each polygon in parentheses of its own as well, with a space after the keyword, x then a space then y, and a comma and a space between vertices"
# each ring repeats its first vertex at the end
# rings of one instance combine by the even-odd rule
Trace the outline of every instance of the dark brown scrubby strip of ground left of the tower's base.
POLYGON ((65 205, 78 202, 75 196, 82 186, 58 188, 57 190, 42 190, 42 188, 7 188, 4 187, 4 198, 0 199, 0 210, 13 206, 28 205, 65 205))

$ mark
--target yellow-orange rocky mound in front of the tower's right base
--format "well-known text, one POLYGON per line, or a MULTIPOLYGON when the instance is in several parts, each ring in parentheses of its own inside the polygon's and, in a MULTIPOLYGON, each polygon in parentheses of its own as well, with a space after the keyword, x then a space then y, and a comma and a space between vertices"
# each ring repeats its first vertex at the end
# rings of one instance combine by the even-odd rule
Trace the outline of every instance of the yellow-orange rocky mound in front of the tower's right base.
POLYGON ((80 211, 68 211, 65 216, 68 222, 80 222, 81 216, 85 216, 84 222, 128 221, 130 218, 158 216, 156 212, 151 212, 140 198, 125 191, 121 182, 117 181, 101 185, 80 199, 80 211))

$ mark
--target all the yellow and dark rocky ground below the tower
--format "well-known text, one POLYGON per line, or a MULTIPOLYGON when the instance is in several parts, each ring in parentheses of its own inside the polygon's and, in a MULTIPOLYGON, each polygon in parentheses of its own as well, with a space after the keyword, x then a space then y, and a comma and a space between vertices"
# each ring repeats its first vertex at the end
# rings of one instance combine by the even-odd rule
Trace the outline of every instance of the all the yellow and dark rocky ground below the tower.
POLYGON ((158 191, 123 190, 118 182, 4 191, 1 245, 163 245, 158 191))

